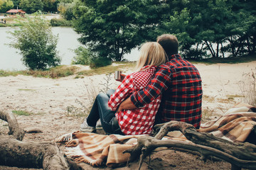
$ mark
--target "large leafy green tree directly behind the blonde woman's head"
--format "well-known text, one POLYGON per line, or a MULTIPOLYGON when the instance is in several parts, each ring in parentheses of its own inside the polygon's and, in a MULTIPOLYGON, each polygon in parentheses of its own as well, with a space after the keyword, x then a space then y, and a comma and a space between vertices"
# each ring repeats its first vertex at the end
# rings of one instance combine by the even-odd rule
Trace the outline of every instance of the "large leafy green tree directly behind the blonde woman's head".
POLYGON ((164 6, 161 1, 78 1, 75 31, 98 57, 121 61, 145 40, 156 40, 164 6))

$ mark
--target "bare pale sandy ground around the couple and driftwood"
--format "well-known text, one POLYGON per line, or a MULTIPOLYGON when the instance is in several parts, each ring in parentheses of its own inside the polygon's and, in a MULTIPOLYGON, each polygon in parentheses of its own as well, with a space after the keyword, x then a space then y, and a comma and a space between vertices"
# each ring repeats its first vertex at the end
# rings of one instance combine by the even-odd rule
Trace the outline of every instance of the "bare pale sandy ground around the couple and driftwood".
MULTIPOLYGON (((203 111, 205 120, 217 118, 228 108, 244 101, 239 86, 244 74, 256 72, 256 61, 240 64, 195 64, 203 81, 203 111)), ((85 68, 86 69, 86 68, 85 68)), ((124 70, 129 74, 133 70, 124 70)), ((110 76, 109 87, 115 89, 119 82, 110 76)), ((71 116, 88 111, 95 95, 104 91, 107 75, 96 75, 75 79, 75 76, 61 79, 47 79, 18 75, 0 77, 1 111, 26 111, 31 115, 17 115, 24 130, 38 128, 42 133, 26 134, 23 141, 53 141, 65 133, 79 130, 83 117, 71 116)), ((0 135, 8 133, 8 126, 0 120, 0 135)), ((119 169, 137 169, 137 162, 119 169)), ((85 169, 92 168, 84 165, 85 169)), ((166 150, 151 157, 151 166, 146 163, 142 169, 230 169, 226 162, 204 163, 198 156, 166 150)), ((0 169, 16 169, 0 166, 0 169)), ((110 169, 110 168, 107 168, 110 169)))

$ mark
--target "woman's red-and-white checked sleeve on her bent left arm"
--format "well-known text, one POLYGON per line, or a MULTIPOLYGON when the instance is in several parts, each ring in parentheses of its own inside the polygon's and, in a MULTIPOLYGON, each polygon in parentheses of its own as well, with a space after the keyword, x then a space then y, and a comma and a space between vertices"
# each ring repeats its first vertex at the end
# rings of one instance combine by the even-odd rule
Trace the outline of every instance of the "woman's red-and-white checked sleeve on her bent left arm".
POLYGON ((128 98, 134 89, 134 78, 131 74, 127 75, 127 77, 124 78, 122 81, 122 84, 120 84, 117 87, 117 90, 114 91, 114 94, 110 96, 110 100, 108 102, 108 106, 111 111, 116 111, 119 104, 124 101, 124 99, 128 98))

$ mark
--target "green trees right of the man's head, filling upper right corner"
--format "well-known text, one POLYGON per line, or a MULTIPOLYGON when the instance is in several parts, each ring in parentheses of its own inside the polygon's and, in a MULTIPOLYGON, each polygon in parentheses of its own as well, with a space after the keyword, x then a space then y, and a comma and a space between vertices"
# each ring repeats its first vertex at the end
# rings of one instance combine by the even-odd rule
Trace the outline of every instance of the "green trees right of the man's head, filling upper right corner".
POLYGON ((163 21, 161 33, 175 34, 185 57, 198 60, 255 54, 254 1, 165 2, 171 17, 163 21))

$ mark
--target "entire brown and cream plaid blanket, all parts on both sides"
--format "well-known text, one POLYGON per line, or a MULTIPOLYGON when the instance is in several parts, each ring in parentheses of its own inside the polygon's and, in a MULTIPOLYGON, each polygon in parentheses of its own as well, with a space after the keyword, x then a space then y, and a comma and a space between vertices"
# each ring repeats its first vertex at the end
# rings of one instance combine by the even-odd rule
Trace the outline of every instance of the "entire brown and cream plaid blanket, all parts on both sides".
MULTIPOLYGON (((233 142, 245 142, 256 125, 256 108, 240 103, 224 115, 201 125, 199 132, 210 132, 217 137, 233 142)), ((117 166, 129 159, 122 154, 137 144, 137 138, 144 135, 99 135, 73 132, 58 137, 55 142, 65 142, 65 154, 75 162, 86 162, 92 166, 117 166)), ((184 140, 181 132, 169 132, 163 140, 184 140)))

